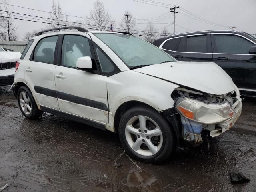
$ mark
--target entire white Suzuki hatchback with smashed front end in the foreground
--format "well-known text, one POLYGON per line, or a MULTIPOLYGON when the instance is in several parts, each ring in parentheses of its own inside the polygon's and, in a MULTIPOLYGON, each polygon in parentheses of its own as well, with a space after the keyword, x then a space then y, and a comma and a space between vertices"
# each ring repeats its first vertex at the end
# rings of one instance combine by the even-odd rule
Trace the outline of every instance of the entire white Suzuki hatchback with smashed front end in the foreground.
POLYGON ((39 32, 26 46, 13 87, 26 118, 50 112, 118 132, 130 156, 155 163, 240 116, 239 90, 218 65, 177 62, 130 34, 74 28, 39 32))

